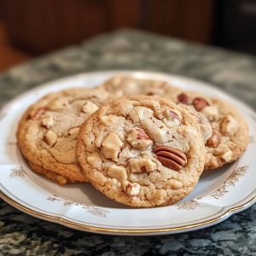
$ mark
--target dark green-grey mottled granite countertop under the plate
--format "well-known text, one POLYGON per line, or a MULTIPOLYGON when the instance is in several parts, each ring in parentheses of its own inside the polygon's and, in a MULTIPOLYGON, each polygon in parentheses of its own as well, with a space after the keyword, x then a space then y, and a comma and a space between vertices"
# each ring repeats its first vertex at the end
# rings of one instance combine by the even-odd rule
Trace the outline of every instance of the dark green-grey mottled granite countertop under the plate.
MULTIPOLYGON (((0 74, 0 104, 51 79, 143 69, 201 79, 256 109, 256 58, 174 38, 121 30, 0 74)), ((103 236, 71 230, 0 200, 0 255, 256 255, 256 205, 221 224, 169 236, 103 236)))

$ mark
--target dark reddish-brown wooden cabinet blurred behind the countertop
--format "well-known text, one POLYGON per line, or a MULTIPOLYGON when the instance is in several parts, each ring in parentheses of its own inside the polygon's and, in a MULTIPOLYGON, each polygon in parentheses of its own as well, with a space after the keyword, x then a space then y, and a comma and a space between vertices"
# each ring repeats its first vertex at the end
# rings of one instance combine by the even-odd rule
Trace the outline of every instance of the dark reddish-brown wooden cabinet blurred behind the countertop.
POLYGON ((41 54, 121 27, 208 42, 213 0, 0 0, 11 41, 41 54))

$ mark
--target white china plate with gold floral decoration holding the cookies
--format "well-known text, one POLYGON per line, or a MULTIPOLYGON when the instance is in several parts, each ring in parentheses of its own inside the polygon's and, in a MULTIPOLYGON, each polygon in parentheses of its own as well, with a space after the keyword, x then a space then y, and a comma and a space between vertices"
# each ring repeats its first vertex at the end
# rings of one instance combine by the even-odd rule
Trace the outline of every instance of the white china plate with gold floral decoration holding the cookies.
POLYGON ((93 87, 120 72, 84 73, 44 84, 9 102, 0 113, 0 196, 32 216, 78 230, 120 235, 160 235, 217 224, 256 200, 256 114, 243 103, 208 84, 152 72, 125 71, 137 78, 164 79, 233 103, 250 125, 247 151, 234 164, 204 172, 195 190, 169 207, 133 209, 96 191, 90 184, 59 186, 31 171, 16 145, 15 131, 25 109, 49 92, 93 87))

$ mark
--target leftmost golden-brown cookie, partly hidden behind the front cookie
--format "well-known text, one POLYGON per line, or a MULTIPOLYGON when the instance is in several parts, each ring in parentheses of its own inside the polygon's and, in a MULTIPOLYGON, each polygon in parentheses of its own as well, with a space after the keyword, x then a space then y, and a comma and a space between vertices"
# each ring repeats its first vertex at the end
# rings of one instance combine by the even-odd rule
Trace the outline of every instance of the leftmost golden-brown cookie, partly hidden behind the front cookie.
POLYGON ((28 108, 17 138, 32 169, 57 183, 86 181, 75 156, 79 127, 106 99, 104 90, 62 90, 28 108))

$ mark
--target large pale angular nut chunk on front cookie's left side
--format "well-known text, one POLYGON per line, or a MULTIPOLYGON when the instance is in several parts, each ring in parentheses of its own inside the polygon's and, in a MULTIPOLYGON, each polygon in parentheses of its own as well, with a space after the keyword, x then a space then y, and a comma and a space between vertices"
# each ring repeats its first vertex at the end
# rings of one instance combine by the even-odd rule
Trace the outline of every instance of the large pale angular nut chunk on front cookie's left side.
POLYGON ((123 146, 122 141, 119 139, 116 133, 111 132, 102 142, 102 153, 107 159, 113 161, 118 160, 119 151, 123 146))

